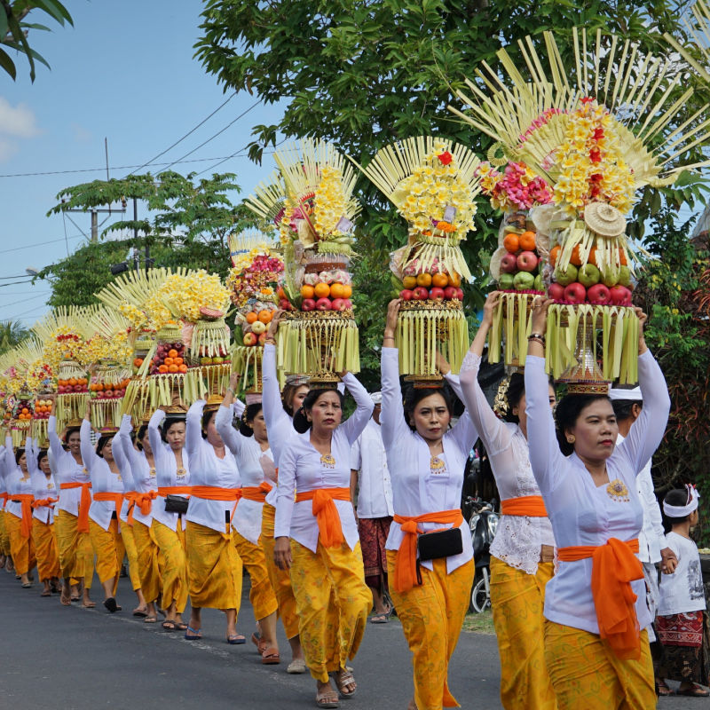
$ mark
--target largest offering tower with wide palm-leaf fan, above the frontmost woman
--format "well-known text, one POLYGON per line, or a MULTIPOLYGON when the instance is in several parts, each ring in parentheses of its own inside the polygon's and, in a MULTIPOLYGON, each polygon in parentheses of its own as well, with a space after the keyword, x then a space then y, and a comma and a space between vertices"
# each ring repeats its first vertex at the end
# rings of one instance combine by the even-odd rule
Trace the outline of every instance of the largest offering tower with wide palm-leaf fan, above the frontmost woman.
MULTIPOLYGON (((673 185, 682 171, 708 164, 682 162, 710 138, 708 106, 686 115, 693 90, 682 87, 690 67, 677 56, 574 29, 565 67, 549 32, 544 45, 543 59, 531 37, 519 41, 517 64, 501 49, 500 67, 483 63, 469 92, 458 92, 465 113, 449 108, 496 141, 491 157, 499 165, 522 164, 544 181, 549 201, 535 216, 549 250, 542 255, 545 284, 557 302, 549 310, 548 370, 580 391, 604 390, 613 379, 637 378, 626 215, 640 188, 673 185)), ((498 256, 493 268, 501 266, 498 256)), ((501 347, 503 309, 505 298, 491 352, 501 347)), ((525 330, 505 334, 521 351, 525 330)))

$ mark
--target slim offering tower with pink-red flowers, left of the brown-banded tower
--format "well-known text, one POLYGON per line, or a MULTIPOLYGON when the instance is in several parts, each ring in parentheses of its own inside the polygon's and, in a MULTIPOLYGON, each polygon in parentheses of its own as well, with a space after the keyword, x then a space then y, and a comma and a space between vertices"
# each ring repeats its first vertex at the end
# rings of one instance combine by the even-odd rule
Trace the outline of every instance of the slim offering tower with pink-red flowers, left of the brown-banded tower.
POLYGON ((258 229, 245 229, 229 239, 232 270, 227 278, 234 317, 233 371, 240 375, 241 390, 261 391, 261 363, 266 330, 279 300, 288 300, 279 285, 283 259, 278 243, 258 229), (280 297, 280 294, 282 297, 280 297))

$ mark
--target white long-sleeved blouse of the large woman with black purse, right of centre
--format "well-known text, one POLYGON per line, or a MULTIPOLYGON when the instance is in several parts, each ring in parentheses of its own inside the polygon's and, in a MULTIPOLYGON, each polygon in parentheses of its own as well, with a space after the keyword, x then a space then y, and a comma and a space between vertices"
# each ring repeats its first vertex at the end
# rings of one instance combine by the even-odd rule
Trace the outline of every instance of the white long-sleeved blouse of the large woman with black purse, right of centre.
MULTIPOLYGON (((443 466, 432 466, 429 445, 405 421, 402 391, 399 387, 397 348, 382 350, 383 410, 380 414, 387 465, 392 482, 392 503, 395 515, 414 517, 441 510, 461 509, 463 470, 469 451, 476 443, 476 427, 464 412, 453 429, 443 439, 444 453, 438 460, 443 466)), ((451 527, 451 524, 420 523, 424 532, 451 527)), ((446 558, 446 570, 451 573, 473 558, 469 525, 464 520, 459 526, 463 552, 446 558)), ((386 548, 398 550, 404 533, 397 522, 390 525, 386 548)), ((432 569, 430 560, 422 566, 432 569)))

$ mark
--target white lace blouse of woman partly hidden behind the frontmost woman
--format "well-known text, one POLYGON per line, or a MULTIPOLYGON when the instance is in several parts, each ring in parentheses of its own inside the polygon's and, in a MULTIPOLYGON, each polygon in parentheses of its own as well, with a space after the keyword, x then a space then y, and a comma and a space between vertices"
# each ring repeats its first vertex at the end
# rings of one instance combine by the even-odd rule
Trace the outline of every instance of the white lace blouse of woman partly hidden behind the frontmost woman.
MULTIPOLYGON (((501 421, 491 409, 478 384, 480 366, 480 355, 468 352, 461 364, 461 388, 466 409, 488 452, 501 500, 540 495, 527 439, 517 424, 501 421)), ((491 555, 518 570, 536 574, 542 545, 555 546, 548 517, 501 516, 491 555)))

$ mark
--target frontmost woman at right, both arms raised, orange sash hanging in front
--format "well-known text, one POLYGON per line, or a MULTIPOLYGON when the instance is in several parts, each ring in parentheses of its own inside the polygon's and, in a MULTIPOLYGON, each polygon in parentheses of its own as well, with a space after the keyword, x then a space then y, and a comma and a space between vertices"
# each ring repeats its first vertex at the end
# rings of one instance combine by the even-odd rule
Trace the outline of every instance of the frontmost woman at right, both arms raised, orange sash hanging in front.
MULTIPOLYGON (((627 438, 615 446, 608 394, 567 394, 553 419, 544 359, 549 303, 540 298, 533 305, 525 360, 530 462, 559 559, 545 591, 545 659, 560 710, 642 710, 656 705, 656 695, 648 634, 640 631, 650 619, 635 556, 643 525, 635 480, 666 430, 666 381, 642 328, 644 405, 627 438)), ((637 313, 643 326, 645 315, 637 313)))

